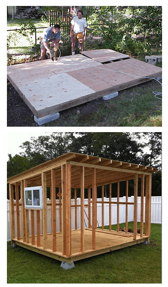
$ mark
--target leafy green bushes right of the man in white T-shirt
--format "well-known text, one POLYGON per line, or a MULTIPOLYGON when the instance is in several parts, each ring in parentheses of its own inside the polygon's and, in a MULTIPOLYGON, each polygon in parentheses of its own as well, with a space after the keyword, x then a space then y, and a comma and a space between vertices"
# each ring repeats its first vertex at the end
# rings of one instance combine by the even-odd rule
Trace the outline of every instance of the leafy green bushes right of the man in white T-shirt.
MULTIPOLYGON (((100 6, 91 8, 88 24, 91 34, 102 38, 102 48, 110 48, 123 53, 140 55, 151 54, 151 44, 146 40, 149 35, 155 35, 157 42, 162 40, 162 7, 161 6, 126 6, 121 11, 118 6, 100 6), (133 35, 144 38, 139 41, 133 35)), ((93 46, 90 48, 96 48, 93 46)))

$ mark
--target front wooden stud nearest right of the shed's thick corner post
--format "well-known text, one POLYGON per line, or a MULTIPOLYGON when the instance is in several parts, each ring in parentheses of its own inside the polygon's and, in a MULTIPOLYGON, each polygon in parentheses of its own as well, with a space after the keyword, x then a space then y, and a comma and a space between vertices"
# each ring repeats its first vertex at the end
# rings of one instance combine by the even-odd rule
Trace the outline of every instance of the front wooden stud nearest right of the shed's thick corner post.
POLYGON ((84 166, 81 167, 81 252, 84 252, 84 166))

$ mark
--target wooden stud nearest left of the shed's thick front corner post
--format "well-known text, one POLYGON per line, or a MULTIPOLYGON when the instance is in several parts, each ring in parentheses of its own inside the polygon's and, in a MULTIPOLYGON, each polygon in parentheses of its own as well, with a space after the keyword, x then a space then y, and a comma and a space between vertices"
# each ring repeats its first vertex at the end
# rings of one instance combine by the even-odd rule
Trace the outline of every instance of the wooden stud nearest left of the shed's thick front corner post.
POLYGON ((52 251, 56 251, 56 205, 55 205, 55 170, 51 169, 51 196, 52 196, 52 251))

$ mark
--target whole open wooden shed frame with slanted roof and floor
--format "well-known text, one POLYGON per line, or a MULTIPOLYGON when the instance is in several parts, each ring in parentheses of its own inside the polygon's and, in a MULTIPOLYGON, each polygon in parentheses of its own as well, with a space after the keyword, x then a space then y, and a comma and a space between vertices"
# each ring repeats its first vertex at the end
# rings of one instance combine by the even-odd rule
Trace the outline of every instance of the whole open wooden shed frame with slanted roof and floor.
POLYGON ((10 196, 12 242, 19 246, 69 262, 81 260, 126 246, 149 241, 151 234, 152 173, 157 168, 126 163, 69 152, 56 159, 33 167, 7 179, 10 196), (137 234, 138 178, 141 179, 141 221, 137 234), (128 181, 134 180, 134 202, 128 202, 128 181), (126 182, 126 202, 120 202, 120 182, 126 182), (112 183, 117 183, 117 201, 112 201, 112 183), (104 201, 104 185, 109 185, 109 202, 104 201), (42 186, 42 210, 25 208, 24 188, 42 186), (102 201, 97 201, 97 187, 102 187, 102 201), (46 188, 50 188, 51 203, 46 201, 46 188), (58 188, 59 203, 56 203, 58 188), (74 188, 75 204, 71 205, 74 188), (77 205, 77 188, 81 190, 81 204, 77 205), (84 189, 88 189, 88 204, 84 204, 84 189), (16 203, 14 203, 14 191, 16 203), (21 222, 19 215, 21 196, 21 222), (92 191, 92 198, 91 198, 92 191), (145 192, 145 210, 143 210, 145 192), (97 227, 97 203, 102 204, 101 229, 97 227), (104 228, 104 203, 109 204, 109 230, 104 228), (51 233, 47 233, 47 204, 51 205, 51 233), (111 229, 112 205, 117 204, 117 230, 111 229), (126 228, 120 231, 120 204, 126 205, 126 228), (133 233, 128 233, 128 207, 134 207, 133 233), (56 205, 59 206, 59 232, 56 232, 56 205), (88 207, 88 228, 84 227, 84 206, 88 207), (92 211, 91 211, 92 206, 92 211), (81 227, 77 229, 77 208, 80 207, 81 227), (16 208, 16 218, 14 218, 16 208), (75 230, 71 230, 71 209, 75 209, 75 230), (143 223, 143 213, 145 222, 143 223), (40 221, 42 218, 42 222, 40 221), (35 234, 36 223, 36 234, 35 234), (17 233, 15 234, 15 225, 17 233), (31 235, 30 235, 31 230, 31 235), (42 230, 42 231, 41 231, 42 230), (144 232, 143 232, 144 230, 144 232))

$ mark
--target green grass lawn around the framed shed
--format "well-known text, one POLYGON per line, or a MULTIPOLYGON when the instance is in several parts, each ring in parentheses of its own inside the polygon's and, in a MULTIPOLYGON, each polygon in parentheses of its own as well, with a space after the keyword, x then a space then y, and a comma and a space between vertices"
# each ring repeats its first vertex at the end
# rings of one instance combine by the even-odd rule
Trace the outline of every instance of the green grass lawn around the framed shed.
MULTIPOLYGON (((132 228, 133 223, 128 227, 132 228)), ((8 242, 7 283, 161 284, 161 232, 160 224, 152 224, 149 245, 137 244, 77 261, 71 270, 60 268, 60 261, 25 248, 13 249, 8 242)))

